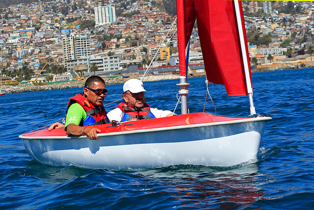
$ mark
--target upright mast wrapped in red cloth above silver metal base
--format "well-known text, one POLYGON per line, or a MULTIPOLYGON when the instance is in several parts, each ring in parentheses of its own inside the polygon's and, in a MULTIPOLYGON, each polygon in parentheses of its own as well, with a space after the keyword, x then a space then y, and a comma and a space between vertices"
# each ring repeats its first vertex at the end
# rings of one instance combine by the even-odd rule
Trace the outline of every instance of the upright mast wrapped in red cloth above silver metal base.
POLYGON ((185 26, 184 26, 184 0, 177 0, 177 28, 179 45, 179 69, 180 69, 180 100, 181 114, 187 114, 187 86, 186 83, 186 60, 185 60, 185 26))

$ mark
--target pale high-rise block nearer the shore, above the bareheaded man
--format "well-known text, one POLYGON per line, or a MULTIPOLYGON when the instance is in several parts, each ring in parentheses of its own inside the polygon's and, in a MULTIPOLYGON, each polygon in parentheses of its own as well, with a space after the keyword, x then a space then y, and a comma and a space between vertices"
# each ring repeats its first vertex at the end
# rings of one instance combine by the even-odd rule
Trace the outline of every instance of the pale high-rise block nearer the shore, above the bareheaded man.
POLYGON ((87 35, 68 34, 62 39, 64 61, 91 55, 90 39, 87 35))

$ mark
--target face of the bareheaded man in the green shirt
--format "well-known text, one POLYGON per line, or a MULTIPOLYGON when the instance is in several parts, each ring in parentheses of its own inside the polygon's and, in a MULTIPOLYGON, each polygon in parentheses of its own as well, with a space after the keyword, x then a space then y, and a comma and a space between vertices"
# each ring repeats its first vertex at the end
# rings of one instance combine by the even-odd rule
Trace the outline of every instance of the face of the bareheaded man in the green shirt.
MULTIPOLYGON (((89 87, 93 90, 105 90, 106 86, 104 83, 101 82, 94 82, 92 87, 89 87)), ((84 88, 84 94, 86 95, 86 99, 92 103, 94 106, 101 106, 103 104, 103 101, 105 99, 105 94, 96 94, 93 90, 89 90, 87 88, 84 88)))

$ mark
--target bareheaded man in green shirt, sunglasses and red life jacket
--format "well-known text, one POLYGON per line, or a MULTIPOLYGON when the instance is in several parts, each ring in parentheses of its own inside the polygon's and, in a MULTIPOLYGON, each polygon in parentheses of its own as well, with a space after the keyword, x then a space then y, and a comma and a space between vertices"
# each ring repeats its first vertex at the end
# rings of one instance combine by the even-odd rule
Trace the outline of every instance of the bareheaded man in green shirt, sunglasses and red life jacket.
POLYGON ((109 123, 103 105, 106 94, 105 81, 99 76, 89 77, 85 82, 83 93, 69 100, 65 112, 65 125, 54 123, 49 130, 64 127, 70 136, 86 135, 89 139, 97 139, 97 132, 101 130, 88 125, 109 123))

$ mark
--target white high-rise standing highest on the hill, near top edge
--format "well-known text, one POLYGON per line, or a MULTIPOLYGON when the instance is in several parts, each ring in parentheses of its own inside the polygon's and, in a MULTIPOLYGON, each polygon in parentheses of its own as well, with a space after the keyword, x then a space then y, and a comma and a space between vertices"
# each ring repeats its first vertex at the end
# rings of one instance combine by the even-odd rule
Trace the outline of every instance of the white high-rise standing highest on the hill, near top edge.
POLYGON ((96 25, 105 25, 116 21, 116 10, 112 5, 94 8, 96 25))

